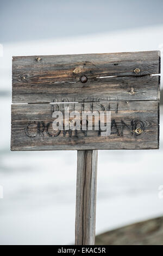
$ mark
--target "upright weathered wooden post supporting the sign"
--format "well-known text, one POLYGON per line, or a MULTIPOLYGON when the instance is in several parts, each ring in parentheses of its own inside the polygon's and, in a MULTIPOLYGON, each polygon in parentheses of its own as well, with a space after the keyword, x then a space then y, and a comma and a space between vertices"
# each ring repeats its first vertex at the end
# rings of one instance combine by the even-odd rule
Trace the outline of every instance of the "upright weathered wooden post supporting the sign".
POLYGON ((76 245, 95 245, 97 150, 78 150, 76 245))

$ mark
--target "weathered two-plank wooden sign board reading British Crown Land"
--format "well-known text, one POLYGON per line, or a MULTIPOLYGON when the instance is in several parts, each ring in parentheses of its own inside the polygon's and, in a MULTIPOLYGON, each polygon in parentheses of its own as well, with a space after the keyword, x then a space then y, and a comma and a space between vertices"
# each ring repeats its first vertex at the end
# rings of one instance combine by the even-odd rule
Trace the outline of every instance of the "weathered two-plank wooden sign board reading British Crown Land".
POLYGON ((158 149, 159 74, 159 51, 13 57, 11 150, 158 149), (53 130, 65 106, 81 130, 53 130), (110 135, 82 130, 83 111, 110 111, 110 135))

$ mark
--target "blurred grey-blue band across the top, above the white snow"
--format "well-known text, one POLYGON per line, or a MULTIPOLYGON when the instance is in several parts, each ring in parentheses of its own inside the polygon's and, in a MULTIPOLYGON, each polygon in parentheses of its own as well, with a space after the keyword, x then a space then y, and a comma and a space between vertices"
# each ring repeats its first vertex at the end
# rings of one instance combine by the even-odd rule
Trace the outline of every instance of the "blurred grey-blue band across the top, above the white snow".
POLYGON ((0 43, 161 25, 162 0, 0 0, 0 43))

